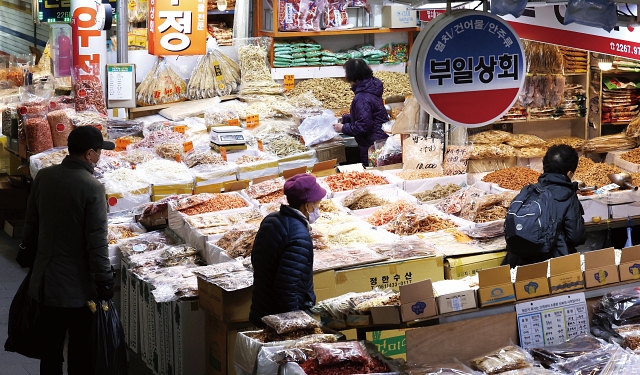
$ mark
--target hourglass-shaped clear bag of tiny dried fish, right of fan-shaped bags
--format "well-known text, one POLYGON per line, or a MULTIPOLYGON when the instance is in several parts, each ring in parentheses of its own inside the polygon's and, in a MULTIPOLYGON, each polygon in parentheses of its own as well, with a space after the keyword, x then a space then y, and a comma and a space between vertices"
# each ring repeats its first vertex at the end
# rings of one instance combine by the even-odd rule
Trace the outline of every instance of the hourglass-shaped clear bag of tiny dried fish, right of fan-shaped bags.
POLYGON ((279 95, 282 86, 271 76, 267 59, 272 39, 268 37, 234 39, 240 61, 240 95, 279 95))

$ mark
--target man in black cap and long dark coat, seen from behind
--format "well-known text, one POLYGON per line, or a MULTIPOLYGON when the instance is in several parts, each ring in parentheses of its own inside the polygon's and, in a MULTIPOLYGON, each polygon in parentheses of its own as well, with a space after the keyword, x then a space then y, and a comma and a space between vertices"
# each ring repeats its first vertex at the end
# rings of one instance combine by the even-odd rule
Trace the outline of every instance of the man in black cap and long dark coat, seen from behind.
POLYGON ((113 150, 93 126, 69 134, 69 156, 41 170, 27 204, 23 243, 37 243, 29 295, 42 304, 43 348, 40 374, 61 375, 69 333, 68 373, 91 368, 87 301, 113 297, 109 264, 107 202, 93 177, 102 149, 113 150))

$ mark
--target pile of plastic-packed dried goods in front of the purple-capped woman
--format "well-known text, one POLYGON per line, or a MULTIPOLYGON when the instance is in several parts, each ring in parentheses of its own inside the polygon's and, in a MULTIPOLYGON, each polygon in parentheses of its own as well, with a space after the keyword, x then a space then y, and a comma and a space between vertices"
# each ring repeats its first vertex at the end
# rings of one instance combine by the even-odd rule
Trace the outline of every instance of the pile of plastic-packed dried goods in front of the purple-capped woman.
POLYGON ((269 315, 262 321, 263 330, 238 333, 235 365, 240 372, 383 374, 399 369, 371 344, 339 341, 342 335, 324 333, 320 323, 302 311, 269 315))

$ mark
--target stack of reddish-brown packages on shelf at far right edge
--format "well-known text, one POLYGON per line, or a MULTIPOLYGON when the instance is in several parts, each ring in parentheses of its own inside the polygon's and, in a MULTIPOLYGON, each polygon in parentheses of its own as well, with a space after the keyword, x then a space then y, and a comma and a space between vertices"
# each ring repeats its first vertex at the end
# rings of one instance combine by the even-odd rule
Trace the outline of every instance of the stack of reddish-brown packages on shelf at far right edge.
POLYGON ((628 122, 638 114, 638 86, 622 78, 602 81, 602 122, 628 122))

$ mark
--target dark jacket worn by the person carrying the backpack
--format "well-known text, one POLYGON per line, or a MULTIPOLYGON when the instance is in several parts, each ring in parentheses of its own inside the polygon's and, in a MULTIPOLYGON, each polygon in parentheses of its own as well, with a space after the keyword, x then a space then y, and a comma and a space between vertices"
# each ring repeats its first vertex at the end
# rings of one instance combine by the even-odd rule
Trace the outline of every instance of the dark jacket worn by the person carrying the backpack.
POLYGON ((513 268, 573 254, 576 252, 576 246, 582 245, 586 241, 582 217, 584 210, 576 195, 577 184, 571 182, 569 177, 557 173, 543 174, 538 178, 538 183, 542 187, 550 189, 554 198, 555 217, 558 220, 558 237, 555 249, 543 255, 521 257, 510 252, 507 244, 507 256, 502 261, 503 265, 508 264, 513 268))

